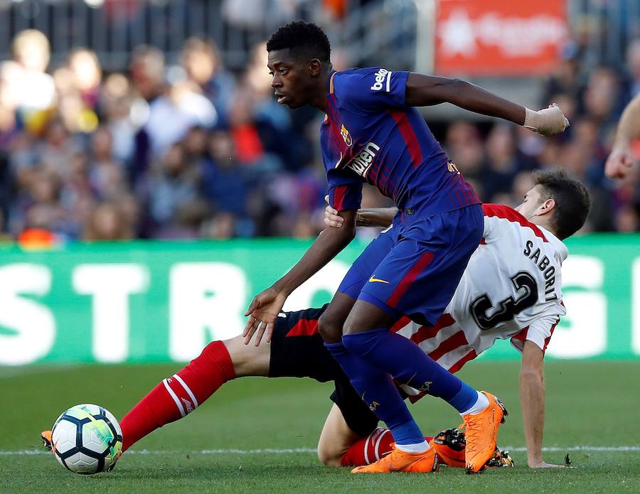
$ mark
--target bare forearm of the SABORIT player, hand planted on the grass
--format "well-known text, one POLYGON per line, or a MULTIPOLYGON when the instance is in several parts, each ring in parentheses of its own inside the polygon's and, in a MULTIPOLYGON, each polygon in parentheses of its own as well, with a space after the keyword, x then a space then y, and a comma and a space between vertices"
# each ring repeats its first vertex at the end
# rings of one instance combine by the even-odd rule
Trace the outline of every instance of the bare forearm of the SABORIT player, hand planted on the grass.
POLYGON ((527 462, 531 468, 559 467, 545 463, 542 439, 545 426, 544 353, 531 341, 525 341, 520 370, 520 401, 527 443, 527 462))

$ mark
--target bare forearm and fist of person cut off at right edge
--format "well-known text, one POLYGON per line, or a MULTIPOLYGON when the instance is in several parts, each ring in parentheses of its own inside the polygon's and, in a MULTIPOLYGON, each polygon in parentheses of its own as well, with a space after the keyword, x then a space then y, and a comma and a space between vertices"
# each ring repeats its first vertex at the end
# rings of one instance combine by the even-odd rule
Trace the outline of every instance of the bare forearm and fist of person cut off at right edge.
POLYGON ((613 148, 604 165, 604 173, 609 178, 624 178, 629 173, 634 162, 629 148, 636 139, 640 139, 640 95, 626 105, 620 117, 613 148))

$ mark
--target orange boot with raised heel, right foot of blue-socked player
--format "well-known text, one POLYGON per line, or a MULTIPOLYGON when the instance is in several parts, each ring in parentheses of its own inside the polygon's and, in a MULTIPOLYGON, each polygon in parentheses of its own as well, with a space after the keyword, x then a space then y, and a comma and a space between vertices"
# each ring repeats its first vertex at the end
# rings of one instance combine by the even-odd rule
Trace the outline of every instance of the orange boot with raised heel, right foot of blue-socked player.
POLYGON ((464 461, 467 473, 481 471, 485 463, 494 456, 498 428, 504 423, 504 417, 508 415, 506 408, 497 397, 486 391, 482 393, 489 398, 489 406, 479 414, 464 415, 462 417, 464 424, 460 426, 466 429, 464 461))

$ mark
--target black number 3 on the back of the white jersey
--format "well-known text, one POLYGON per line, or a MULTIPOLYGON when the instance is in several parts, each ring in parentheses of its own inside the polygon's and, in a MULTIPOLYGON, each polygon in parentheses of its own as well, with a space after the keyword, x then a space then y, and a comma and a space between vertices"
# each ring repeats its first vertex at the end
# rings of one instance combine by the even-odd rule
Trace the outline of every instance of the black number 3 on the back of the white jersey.
POLYGON ((530 273, 521 271, 514 274, 511 276, 511 283, 516 288, 517 298, 508 296, 498 302, 498 307, 491 316, 486 315, 487 311, 494 306, 488 294, 482 294, 471 302, 469 310, 479 328, 491 329, 498 326, 499 323, 511 321, 516 314, 533 306, 538 301, 538 284, 530 273), (518 296, 521 289, 524 289, 524 293, 518 296))

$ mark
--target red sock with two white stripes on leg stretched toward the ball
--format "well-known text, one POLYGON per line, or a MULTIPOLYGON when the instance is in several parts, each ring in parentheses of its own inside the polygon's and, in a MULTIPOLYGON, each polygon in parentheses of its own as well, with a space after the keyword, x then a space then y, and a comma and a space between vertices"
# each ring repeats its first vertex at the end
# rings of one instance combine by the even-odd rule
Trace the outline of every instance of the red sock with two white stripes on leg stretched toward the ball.
POLYGON ((221 341, 209 343, 189 365, 162 380, 122 418, 122 451, 151 431, 185 417, 234 377, 225 345, 221 341))

